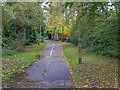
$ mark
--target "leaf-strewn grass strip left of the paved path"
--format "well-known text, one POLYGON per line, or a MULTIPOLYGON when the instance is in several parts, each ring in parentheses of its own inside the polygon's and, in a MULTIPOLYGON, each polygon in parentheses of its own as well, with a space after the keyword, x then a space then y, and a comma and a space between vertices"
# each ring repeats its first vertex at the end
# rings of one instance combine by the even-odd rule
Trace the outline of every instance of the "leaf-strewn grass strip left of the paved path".
POLYGON ((30 63, 35 61, 35 56, 40 53, 46 46, 46 43, 38 45, 30 45, 26 47, 25 52, 16 52, 12 55, 5 55, 2 57, 3 71, 2 79, 8 80, 11 75, 28 67, 30 63))

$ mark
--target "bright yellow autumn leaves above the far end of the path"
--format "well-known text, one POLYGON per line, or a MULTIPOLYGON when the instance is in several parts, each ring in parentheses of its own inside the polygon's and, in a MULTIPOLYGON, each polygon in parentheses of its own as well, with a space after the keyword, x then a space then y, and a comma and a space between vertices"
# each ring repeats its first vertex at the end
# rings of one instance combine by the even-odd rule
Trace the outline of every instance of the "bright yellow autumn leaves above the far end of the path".
POLYGON ((46 27, 46 30, 50 33, 52 33, 54 28, 56 28, 56 32, 59 34, 64 34, 67 36, 70 36, 71 29, 72 29, 72 23, 66 24, 65 23, 65 16, 51 16, 51 18, 48 20, 48 25, 46 27))

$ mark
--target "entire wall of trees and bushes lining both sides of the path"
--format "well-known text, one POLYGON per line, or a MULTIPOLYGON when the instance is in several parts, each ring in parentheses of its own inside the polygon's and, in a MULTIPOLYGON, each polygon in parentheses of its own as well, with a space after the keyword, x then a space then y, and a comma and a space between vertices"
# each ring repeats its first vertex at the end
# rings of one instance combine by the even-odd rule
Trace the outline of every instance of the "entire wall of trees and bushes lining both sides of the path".
POLYGON ((3 3, 3 55, 6 49, 24 51, 25 45, 41 42, 45 30, 49 38, 81 43, 89 52, 119 57, 120 3, 46 5, 43 10, 41 3, 3 3))

